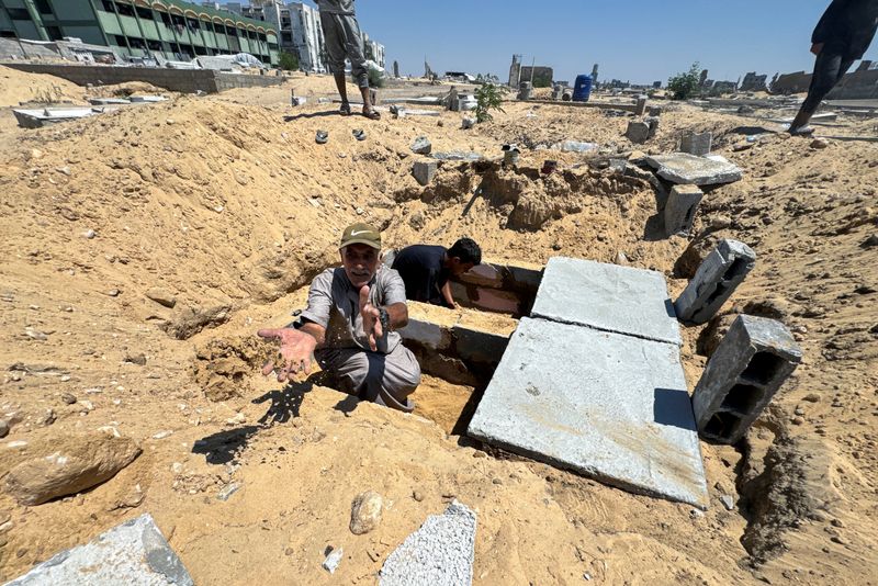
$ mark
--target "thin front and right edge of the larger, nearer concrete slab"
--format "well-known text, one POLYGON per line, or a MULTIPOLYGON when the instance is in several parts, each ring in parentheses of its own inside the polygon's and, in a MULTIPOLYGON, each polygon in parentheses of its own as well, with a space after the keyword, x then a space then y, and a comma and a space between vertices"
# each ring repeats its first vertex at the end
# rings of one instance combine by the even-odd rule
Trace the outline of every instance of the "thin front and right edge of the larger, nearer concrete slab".
MULTIPOLYGON (((475 418, 473 418, 473 420, 475 420, 475 418)), ((572 472, 577 476, 584 476, 587 478, 595 480, 601 484, 606 484, 607 486, 611 486, 614 488, 619 488, 621 491, 631 493, 633 495, 649 496, 650 498, 667 500, 668 503, 683 503, 686 505, 691 505, 693 507, 697 507, 700 510, 708 510, 710 508, 710 493, 707 487, 707 471, 705 470, 702 470, 705 476, 703 492, 700 495, 696 495, 694 493, 689 494, 688 496, 680 494, 678 495, 677 498, 674 498, 669 495, 662 494, 657 491, 650 491, 648 488, 644 488, 643 486, 626 482, 623 478, 612 476, 603 471, 598 471, 597 469, 592 466, 582 466, 579 469, 573 467, 570 464, 562 462, 555 458, 551 458, 540 452, 528 450, 527 448, 522 448, 520 446, 514 446, 513 443, 492 437, 491 433, 487 433, 484 430, 479 429, 476 426, 473 425, 473 422, 471 422, 470 426, 466 428, 466 435, 471 438, 484 441, 485 443, 489 443, 495 448, 499 448, 510 453, 522 455, 525 458, 533 460, 534 462, 543 462, 559 470, 572 472)), ((701 462, 701 467, 703 469, 705 454, 701 450, 700 438, 699 441, 697 442, 697 446, 698 446, 699 460, 701 462)))

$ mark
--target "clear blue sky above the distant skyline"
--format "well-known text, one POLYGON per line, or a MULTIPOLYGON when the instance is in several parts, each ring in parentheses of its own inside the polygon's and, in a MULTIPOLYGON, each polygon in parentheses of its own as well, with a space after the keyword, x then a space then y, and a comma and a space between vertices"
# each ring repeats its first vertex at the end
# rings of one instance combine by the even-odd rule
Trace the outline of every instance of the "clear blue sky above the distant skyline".
MULTIPOLYGON (((513 54, 573 82, 667 81, 698 61, 710 78, 813 69, 811 32, 830 0, 357 0, 360 26, 386 48, 387 69, 491 72, 513 54)), ((878 41, 866 53, 878 60, 878 41)))

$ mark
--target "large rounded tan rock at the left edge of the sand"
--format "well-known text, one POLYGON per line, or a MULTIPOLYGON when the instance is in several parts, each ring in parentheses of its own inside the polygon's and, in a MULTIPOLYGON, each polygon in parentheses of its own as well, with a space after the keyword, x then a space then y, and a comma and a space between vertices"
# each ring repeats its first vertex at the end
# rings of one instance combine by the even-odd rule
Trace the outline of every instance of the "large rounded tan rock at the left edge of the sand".
POLYGON ((130 438, 103 433, 68 437, 45 453, 19 463, 3 480, 7 494, 33 506, 72 495, 112 478, 140 454, 130 438))

